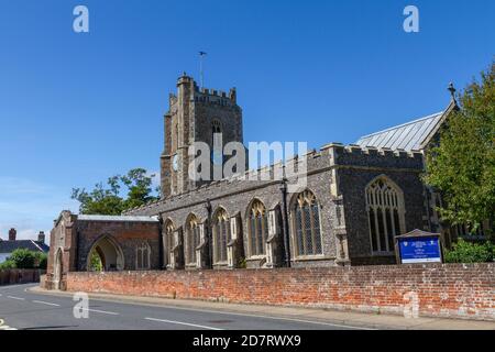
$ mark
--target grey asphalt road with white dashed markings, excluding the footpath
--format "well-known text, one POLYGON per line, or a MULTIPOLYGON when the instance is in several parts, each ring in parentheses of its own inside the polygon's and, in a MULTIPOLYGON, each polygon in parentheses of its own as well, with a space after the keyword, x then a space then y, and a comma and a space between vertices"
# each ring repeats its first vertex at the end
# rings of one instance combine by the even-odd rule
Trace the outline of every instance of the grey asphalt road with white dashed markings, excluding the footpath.
POLYGON ((114 302, 91 298, 88 318, 75 318, 72 297, 28 292, 31 285, 0 287, 0 318, 14 329, 43 330, 355 330, 319 321, 224 311, 114 302))

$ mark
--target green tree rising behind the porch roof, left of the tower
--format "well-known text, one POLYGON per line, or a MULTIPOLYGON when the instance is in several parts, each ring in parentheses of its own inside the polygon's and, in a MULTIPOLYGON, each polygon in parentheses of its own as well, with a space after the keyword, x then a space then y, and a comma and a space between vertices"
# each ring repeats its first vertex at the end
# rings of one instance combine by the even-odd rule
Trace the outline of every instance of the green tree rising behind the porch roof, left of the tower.
POLYGON ((107 186, 99 183, 91 191, 74 188, 72 198, 79 201, 79 212, 85 215, 117 216, 122 211, 142 206, 157 199, 153 196, 153 177, 144 168, 131 169, 127 175, 116 175, 107 180, 107 186), (127 188, 122 197, 122 187, 127 188))

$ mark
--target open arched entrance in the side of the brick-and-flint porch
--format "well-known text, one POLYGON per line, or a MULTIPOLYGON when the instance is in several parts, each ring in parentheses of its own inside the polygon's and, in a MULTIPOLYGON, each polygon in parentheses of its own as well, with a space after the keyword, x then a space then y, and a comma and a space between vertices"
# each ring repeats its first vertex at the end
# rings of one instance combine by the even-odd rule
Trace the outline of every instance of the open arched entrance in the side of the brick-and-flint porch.
POLYGON ((124 268, 120 245, 110 235, 103 235, 91 246, 87 260, 88 272, 117 272, 124 268))

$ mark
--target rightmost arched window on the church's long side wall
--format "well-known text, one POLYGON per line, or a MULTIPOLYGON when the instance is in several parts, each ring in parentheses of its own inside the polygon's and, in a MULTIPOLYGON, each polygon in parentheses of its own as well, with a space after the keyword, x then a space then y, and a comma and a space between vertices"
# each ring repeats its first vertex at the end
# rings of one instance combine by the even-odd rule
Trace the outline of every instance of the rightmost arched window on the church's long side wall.
POLYGON ((323 254, 320 232, 320 209, 315 195, 306 190, 293 205, 296 254, 323 254))

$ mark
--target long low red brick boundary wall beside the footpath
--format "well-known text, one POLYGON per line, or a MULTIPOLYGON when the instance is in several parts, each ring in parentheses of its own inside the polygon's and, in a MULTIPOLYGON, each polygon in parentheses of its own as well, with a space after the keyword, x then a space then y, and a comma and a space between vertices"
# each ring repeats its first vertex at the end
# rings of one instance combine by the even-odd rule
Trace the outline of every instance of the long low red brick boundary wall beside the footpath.
POLYGON ((494 268, 490 263, 68 273, 67 289, 495 321, 494 268))

